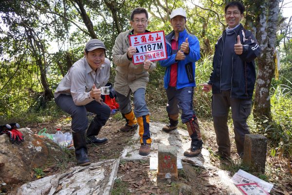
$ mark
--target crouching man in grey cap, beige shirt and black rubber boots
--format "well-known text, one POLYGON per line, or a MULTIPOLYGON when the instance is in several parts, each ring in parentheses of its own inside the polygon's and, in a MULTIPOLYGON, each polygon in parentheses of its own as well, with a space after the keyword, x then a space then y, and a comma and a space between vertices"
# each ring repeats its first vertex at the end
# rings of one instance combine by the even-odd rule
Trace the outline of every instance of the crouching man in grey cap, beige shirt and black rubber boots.
POLYGON ((110 77, 110 63, 105 63, 106 47, 99 39, 85 45, 84 58, 76 61, 55 91, 56 104, 72 117, 72 135, 77 164, 89 165, 86 144, 103 144, 108 138, 96 138, 110 117, 110 107, 102 101, 101 86, 110 77), (88 127, 87 111, 96 114, 88 127), (87 128, 88 127, 88 128, 87 128), (86 132, 86 135, 85 135, 86 132))

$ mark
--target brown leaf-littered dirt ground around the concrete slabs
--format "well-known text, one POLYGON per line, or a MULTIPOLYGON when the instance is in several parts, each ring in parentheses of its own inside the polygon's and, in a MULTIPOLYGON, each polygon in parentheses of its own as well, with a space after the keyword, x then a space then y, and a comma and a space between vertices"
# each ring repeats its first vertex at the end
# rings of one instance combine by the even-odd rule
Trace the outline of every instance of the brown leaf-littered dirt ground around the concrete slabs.
MULTIPOLYGON (((151 108, 151 120, 166 122, 167 115, 164 108, 151 108)), ((92 118, 93 115, 89 115, 92 118)), ((107 124, 102 128, 98 137, 108 137, 109 141, 104 145, 89 145, 89 156, 91 162, 97 162, 102 159, 118 158, 126 145, 130 145, 130 138, 134 132, 121 132, 119 128, 125 124, 120 113, 111 115, 107 124)), ((41 124, 27 124, 27 127, 35 133, 43 128, 47 133, 55 133, 56 128, 61 131, 70 131, 71 118, 63 116, 57 121, 44 122, 41 124)), ((236 154, 235 143, 232 142, 232 160, 221 160, 214 155, 217 150, 216 135, 211 121, 200 119, 200 127, 204 147, 210 151, 211 162, 214 166, 230 171, 230 176, 237 172, 240 166, 240 158, 236 154)), ((180 124, 180 128, 184 128, 180 124)), ((230 135, 234 140, 234 135, 230 135)), ((55 165, 43 169, 45 176, 65 172, 66 169, 76 166, 74 152, 68 152, 67 161, 61 162, 64 166, 55 165)), ((271 194, 273 195, 291 195, 292 194, 292 176, 289 174, 287 159, 267 156, 268 169, 266 169, 266 180, 276 182, 271 194)), ((32 180, 37 179, 33 172, 32 180)), ((265 177, 264 177, 265 179, 265 177)), ((20 184, 19 184, 20 185, 20 184)), ((18 185, 18 186, 19 186, 18 185)), ((15 194, 18 186, 6 188, 7 193, 15 194)), ((149 170, 149 161, 125 161, 121 160, 117 179, 111 195, 226 195, 226 187, 220 182, 220 178, 215 170, 204 170, 187 163, 183 163, 183 169, 179 170, 179 179, 177 181, 156 181, 156 171, 149 170)), ((1 193, 0 193, 1 195, 1 193)))

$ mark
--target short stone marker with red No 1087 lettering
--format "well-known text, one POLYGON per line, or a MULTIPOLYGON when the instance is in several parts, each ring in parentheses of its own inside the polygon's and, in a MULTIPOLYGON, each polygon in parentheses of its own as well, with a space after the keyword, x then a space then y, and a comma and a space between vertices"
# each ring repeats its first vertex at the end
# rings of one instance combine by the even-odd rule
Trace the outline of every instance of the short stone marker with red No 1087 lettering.
POLYGON ((159 145, 157 178, 178 178, 177 149, 175 146, 159 145))

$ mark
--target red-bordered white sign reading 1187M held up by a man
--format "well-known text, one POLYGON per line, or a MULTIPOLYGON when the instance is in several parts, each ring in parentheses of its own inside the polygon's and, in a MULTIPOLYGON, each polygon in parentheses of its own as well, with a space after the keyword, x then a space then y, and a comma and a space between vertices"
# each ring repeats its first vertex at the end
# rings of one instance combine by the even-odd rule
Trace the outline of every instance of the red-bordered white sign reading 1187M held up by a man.
POLYGON ((164 31, 129 35, 130 46, 136 47, 132 60, 141 64, 146 59, 157 61, 167 59, 164 31))

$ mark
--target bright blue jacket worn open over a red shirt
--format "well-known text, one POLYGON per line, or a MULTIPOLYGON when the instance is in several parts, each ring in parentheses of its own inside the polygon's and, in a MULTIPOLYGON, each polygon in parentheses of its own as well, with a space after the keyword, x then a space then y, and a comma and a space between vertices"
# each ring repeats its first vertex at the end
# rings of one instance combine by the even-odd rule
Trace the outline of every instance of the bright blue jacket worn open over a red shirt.
POLYGON ((200 44, 196 36, 191 35, 184 29, 183 32, 179 33, 179 48, 181 44, 188 38, 189 43, 189 54, 186 55, 184 60, 175 60, 176 54, 171 55, 171 38, 174 36, 174 31, 165 36, 166 40, 166 50, 167 59, 160 60, 160 65, 166 67, 164 74, 164 88, 168 88, 170 79, 170 67, 174 63, 178 63, 178 77, 176 88, 181 89, 183 87, 194 87, 195 82, 195 62, 198 61, 200 57, 200 44))

